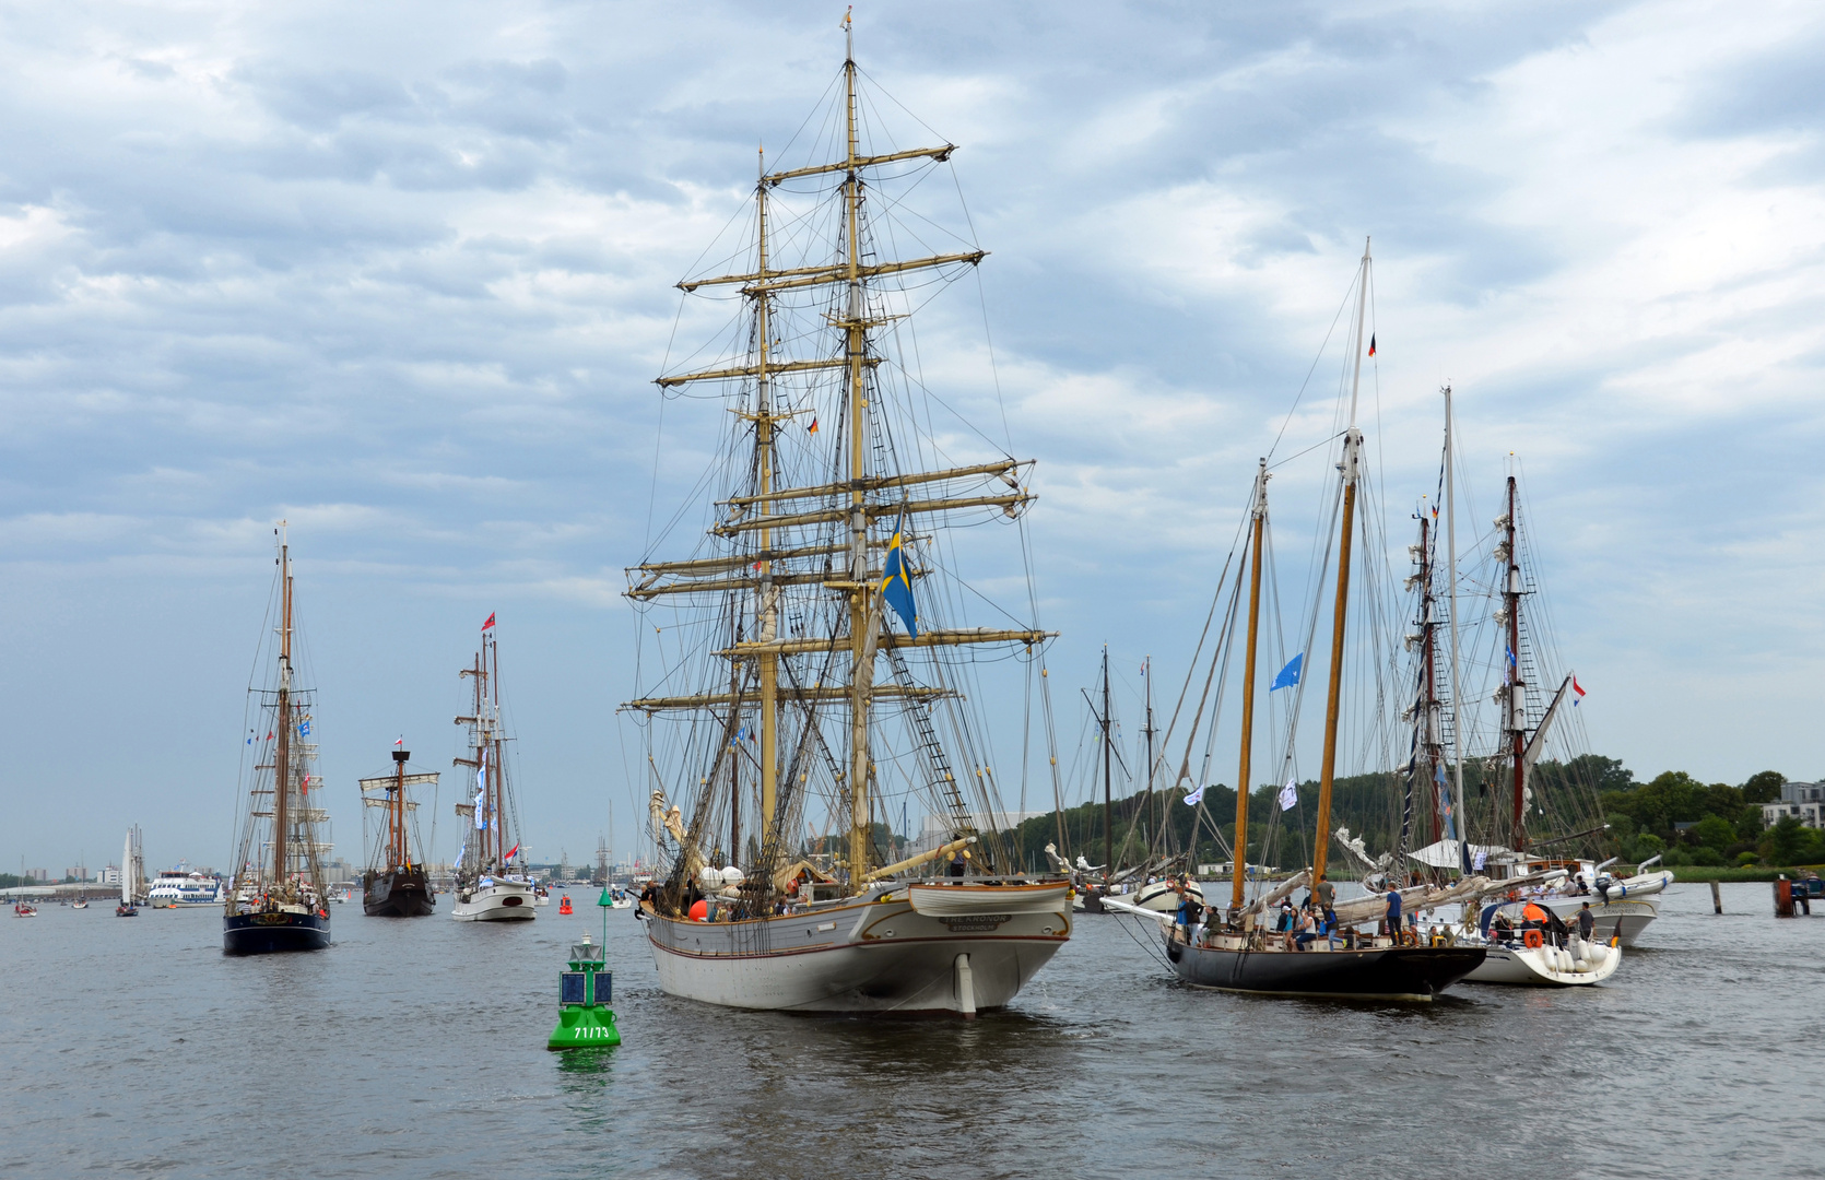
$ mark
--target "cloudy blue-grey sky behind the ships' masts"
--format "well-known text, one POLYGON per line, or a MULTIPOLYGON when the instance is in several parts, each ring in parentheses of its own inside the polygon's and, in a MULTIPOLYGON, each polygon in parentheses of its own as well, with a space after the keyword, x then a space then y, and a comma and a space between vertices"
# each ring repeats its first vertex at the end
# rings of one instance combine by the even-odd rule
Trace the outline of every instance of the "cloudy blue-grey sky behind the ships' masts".
MULTIPOLYGON (((113 861, 128 824, 228 863, 279 520, 338 854, 394 739, 460 751, 489 613, 527 844, 633 850, 622 569, 694 480, 655 456, 719 429, 661 419, 673 283, 840 18, 0 13, 0 868, 113 861)), ((991 254, 922 348, 993 356, 969 396, 1038 460, 1073 697, 1102 644, 1183 680, 1256 456, 1329 429, 1288 409, 1372 237, 1387 534, 1451 383, 1475 529, 1522 472, 1590 746, 1825 773, 1818 5, 860 4, 856 53, 960 146, 991 254)))

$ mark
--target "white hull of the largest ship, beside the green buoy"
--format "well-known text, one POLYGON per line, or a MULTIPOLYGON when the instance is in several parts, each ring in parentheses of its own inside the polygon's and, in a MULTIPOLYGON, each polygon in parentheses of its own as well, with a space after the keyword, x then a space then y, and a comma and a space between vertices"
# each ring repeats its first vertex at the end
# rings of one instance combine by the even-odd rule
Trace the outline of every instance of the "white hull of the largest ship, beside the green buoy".
POLYGON ((883 886, 783 917, 648 914, 659 987, 732 1009, 971 1012, 1006 1007, 1071 936, 1062 885, 940 888, 949 905, 883 886))

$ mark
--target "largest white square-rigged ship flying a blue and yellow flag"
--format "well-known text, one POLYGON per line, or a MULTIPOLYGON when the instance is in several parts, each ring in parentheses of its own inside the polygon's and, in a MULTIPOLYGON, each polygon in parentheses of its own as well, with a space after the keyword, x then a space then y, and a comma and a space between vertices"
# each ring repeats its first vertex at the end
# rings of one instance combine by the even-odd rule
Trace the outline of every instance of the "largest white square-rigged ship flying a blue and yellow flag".
MULTIPOLYGON (((889 254, 907 195, 956 148, 867 150, 861 113, 880 111, 847 20, 845 40, 810 160, 763 157, 750 264, 679 285, 739 314, 717 363, 659 378, 668 396, 721 388, 730 414, 697 554, 628 571, 650 629, 648 695, 626 708, 672 861, 641 917, 675 996, 969 1014, 1006 1005, 1071 932, 1068 881, 1020 874, 1000 835, 987 709, 1006 697, 975 691, 995 658, 1044 693, 1049 633, 1006 611, 958 626, 973 598, 954 533, 1018 527, 1029 461, 965 461, 947 447, 980 454, 984 436, 933 427, 956 418, 907 356, 907 317, 986 252, 889 254), (949 839, 894 841, 914 802, 949 839)), ((980 533, 978 551, 1024 565, 1024 543, 980 533)))

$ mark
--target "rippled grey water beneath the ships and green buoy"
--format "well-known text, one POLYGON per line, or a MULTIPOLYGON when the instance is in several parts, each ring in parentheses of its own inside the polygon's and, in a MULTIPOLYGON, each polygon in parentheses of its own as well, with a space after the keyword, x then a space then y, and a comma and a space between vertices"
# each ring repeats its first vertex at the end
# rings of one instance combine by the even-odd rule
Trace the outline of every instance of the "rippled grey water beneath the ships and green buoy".
POLYGON ((215 910, 7 912, 0 1175, 1825 1175, 1825 910, 1725 910, 1677 886, 1610 987, 1433 1005, 1192 992, 1133 919, 1086 917, 975 1023, 670 999, 620 910, 626 1043, 573 1054, 544 1041, 595 906, 338 906, 330 950, 256 959, 215 910))

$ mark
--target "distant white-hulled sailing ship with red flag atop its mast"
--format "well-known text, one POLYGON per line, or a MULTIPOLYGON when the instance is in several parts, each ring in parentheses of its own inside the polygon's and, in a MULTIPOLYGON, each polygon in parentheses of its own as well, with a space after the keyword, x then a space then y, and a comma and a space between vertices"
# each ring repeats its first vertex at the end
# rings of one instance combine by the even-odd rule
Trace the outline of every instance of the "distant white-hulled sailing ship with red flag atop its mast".
POLYGON ((451 917, 456 921, 531 921, 537 912, 533 879, 520 843, 513 839, 518 815, 507 775, 507 735, 500 715, 500 647, 495 616, 482 624, 482 649, 464 668, 473 708, 458 717, 469 728, 469 757, 456 766, 473 771, 467 799, 456 804, 464 844, 456 854, 456 888, 451 917))

